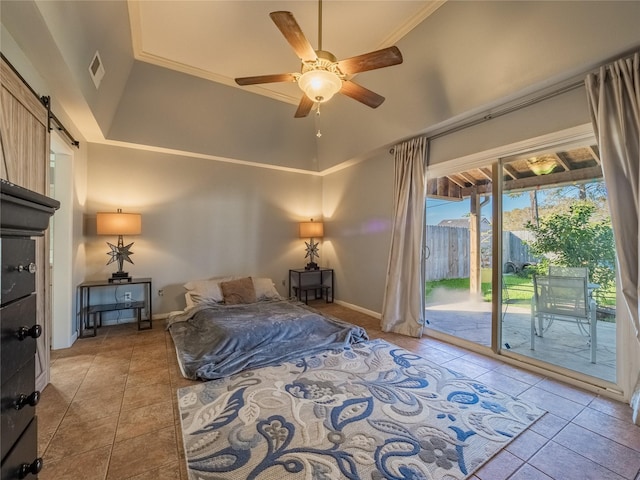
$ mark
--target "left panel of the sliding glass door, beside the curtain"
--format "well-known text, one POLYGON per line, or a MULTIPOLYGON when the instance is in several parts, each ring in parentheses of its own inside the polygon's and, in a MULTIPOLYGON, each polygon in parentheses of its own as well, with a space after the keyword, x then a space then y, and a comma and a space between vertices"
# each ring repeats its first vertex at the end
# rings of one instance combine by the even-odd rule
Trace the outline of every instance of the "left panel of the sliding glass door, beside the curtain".
POLYGON ((428 181, 429 329, 491 346, 491 165, 428 181))

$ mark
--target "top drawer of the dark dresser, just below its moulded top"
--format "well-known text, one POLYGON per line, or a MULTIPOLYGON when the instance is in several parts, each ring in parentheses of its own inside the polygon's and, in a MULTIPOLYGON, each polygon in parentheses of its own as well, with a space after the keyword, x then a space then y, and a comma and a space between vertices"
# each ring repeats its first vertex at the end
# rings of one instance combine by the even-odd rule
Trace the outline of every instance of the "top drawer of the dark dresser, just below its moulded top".
POLYGON ((2 305, 36 289, 36 246, 28 238, 3 238, 2 243, 2 305))

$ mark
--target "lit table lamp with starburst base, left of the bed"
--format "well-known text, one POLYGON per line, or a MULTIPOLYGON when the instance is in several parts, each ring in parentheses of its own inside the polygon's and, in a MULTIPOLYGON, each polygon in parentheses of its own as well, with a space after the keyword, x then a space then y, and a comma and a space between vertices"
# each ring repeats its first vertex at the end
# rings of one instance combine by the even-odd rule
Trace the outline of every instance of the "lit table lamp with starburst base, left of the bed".
POLYGON ((130 257, 133 255, 131 251, 133 242, 125 246, 122 236, 140 235, 142 232, 141 215, 139 213, 123 213, 120 208, 116 213, 98 212, 96 216, 96 230, 98 235, 118 236, 117 245, 107 242, 107 245, 111 248, 111 251, 107 252, 107 255, 111 256, 107 265, 118 262, 118 271, 111 275, 109 283, 130 282, 131 277, 127 272, 123 271, 122 267, 125 260, 133 265, 130 257))

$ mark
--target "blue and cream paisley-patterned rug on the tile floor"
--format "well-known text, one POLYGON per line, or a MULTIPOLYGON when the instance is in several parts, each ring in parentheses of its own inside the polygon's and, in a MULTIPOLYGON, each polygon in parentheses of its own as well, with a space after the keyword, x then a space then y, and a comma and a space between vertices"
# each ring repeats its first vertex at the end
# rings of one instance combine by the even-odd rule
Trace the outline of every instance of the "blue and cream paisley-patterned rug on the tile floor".
POLYGON ((463 479, 544 412, 384 340, 178 390, 190 479, 463 479))

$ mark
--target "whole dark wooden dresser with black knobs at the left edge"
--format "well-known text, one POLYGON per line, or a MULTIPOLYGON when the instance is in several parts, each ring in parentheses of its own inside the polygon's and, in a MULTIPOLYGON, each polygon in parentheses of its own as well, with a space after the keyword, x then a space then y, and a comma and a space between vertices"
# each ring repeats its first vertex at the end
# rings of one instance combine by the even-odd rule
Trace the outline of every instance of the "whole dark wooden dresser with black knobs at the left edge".
POLYGON ((35 240, 60 206, 57 200, 0 180, 0 464, 1 480, 37 478, 35 406, 36 324, 35 240))

